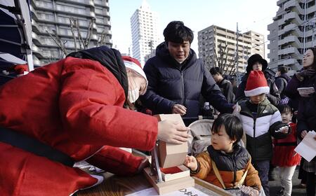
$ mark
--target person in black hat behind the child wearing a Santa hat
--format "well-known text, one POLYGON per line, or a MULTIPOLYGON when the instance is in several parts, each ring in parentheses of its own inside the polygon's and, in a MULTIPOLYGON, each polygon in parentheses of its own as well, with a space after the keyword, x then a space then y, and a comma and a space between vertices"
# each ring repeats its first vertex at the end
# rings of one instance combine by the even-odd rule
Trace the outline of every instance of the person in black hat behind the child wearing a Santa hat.
MULTIPOLYGON (((250 71, 263 71, 268 68, 268 62, 261 57, 261 55, 254 54, 251 55, 248 59, 248 65, 246 67, 246 74, 242 77, 242 82, 238 86, 237 94, 235 101, 236 102, 244 102, 248 100, 248 98, 244 94, 244 89, 246 87, 246 83, 248 80, 248 76, 250 71)), ((269 102, 273 104, 274 106, 277 106, 280 101, 279 97, 279 90, 277 89, 277 85, 275 85, 274 80, 272 80, 270 77, 266 78, 268 86, 270 87, 270 91, 268 94, 266 94, 269 102)))

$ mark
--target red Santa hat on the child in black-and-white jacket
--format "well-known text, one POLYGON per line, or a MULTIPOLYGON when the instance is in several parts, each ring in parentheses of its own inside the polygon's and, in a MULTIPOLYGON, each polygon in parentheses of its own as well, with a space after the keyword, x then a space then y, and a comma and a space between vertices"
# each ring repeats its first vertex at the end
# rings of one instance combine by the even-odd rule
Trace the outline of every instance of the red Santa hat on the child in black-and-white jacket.
POLYGON ((268 94, 270 92, 270 87, 268 86, 267 79, 262 71, 250 71, 246 89, 244 94, 246 97, 252 97, 259 94, 268 94))

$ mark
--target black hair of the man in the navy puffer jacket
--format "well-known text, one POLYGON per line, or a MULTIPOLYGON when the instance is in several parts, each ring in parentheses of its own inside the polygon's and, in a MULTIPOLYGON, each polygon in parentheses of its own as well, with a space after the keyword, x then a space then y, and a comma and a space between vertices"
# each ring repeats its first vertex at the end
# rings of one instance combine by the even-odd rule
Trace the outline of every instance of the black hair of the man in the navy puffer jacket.
POLYGON ((172 21, 164 29, 164 41, 167 43, 172 41, 174 43, 183 43, 184 41, 193 41, 193 31, 185 27, 181 21, 172 21))

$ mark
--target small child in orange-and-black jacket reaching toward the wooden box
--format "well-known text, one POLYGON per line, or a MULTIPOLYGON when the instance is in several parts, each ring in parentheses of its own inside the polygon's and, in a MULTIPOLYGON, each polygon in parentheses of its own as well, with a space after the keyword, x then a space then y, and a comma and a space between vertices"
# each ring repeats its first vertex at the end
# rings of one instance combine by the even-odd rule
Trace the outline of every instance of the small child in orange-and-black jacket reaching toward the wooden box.
POLYGON ((258 172, 251 165, 249 153, 238 144, 243 134, 240 120, 232 114, 220 115, 214 120, 211 134, 207 153, 200 153, 197 158, 187 156, 184 165, 193 176, 220 188, 244 184, 254 188, 258 195, 261 189, 258 172))

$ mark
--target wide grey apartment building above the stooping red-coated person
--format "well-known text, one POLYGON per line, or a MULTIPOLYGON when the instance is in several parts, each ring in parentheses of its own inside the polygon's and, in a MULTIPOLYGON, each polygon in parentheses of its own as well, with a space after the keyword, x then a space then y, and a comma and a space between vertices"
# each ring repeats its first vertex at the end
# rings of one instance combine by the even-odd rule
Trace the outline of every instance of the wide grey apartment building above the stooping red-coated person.
MULTIPOLYGON (((55 33, 65 43, 67 53, 73 52, 74 36, 70 18, 78 20, 81 37, 91 32, 88 48, 98 44, 112 47, 112 34, 108 0, 31 0, 32 12, 32 51, 34 64, 43 65, 63 57, 60 47, 55 43, 55 33), (94 22, 91 22, 91 21, 94 22), (89 29, 89 24, 93 24, 89 29), (55 32, 55 33, 54 33, 55 32)), ((79 38, 73 28, 77 50, 79 38)))

